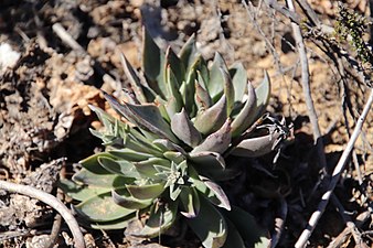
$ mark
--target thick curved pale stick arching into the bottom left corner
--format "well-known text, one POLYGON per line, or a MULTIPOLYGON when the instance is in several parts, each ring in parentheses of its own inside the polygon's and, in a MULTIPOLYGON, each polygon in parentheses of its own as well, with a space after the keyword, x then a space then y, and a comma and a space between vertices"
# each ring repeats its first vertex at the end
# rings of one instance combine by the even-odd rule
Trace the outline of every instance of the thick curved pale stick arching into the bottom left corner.
POLYGON ((68 208, 60 200, 35 187, 32 187, 29 185, 15 184, 15 183, 7 182, 3 180, 0 180, 0 188, 36 198, 50 205, 51 207, 53 207, 65 219, 68 228, 71 229, 74 236, 75 247, 85 248, 84 237, 83 237, 83 234, 79 229, 79 226, 76 219, 70 213, 68 208))

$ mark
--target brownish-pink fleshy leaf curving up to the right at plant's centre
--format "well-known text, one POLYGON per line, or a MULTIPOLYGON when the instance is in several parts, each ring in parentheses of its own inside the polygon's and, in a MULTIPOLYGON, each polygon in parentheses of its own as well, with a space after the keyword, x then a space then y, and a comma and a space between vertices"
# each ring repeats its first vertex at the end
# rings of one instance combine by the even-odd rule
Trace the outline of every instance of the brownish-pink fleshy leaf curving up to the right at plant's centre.
POLYGON ((217 131, 207 136, 207 138, 195 147, 191 154, 203 151, 223 153, 231 144, 231 119, 227 119, 225 123, 217 131))

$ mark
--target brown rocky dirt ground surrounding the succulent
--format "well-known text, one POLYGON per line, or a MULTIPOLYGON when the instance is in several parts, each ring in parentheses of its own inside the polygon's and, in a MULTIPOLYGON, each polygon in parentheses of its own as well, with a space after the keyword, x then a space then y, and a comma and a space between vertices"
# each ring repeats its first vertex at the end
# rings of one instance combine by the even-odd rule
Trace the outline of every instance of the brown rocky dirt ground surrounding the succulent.
MULTIPOLYGON (((322 21, 332 25, 337 3, 309 2, 322 21)), ((254 84, 259 83, 267 71, 273 87, 267 110, 294 125, 294 138, 283 149, 278 162, 271 162, 273 155, 256 160, 246 171, 249 176, 241 192, 244 195, 239 195, 245 209, 271 234, 276 233, 275 222, 281 219, 280 205, 285 200, 287 215, 278 247, 292 247, 316 209, 324 185, 317 165, 290 21, 262 1, 253 1, 253 4, 260 10, 254 15, 241 1, 234 0, 2 0, 0 179, 33 185, 70 204, 71 200, 57 190, 56 182, 60 177, 70 177, 79 166, 79 160, 103 150, 99 140, 88 131, 89 127, 99 127, 99 122, 87 106, 109 108, 99 89, 120 97, 127 78, 118 55, 124 53, 132 65, 140 67, 142 25, 159 45, 171 45, 174 51, 195 33, 205 58, 212 58, 217 51, 228 65, 242 62, 254 84), (64 41, 58 32, 61 26, 75 43, 64 41), (266 169, 257 170, 257 164, 266 169)), ((369 14, 366 1, 347 4, 369 14)), ((364 106, 367 88, 351 82, 349 99, 353 111, 343 109, 345 93, 337 80, 335 69, 315 44, 307 41, 307 46, 311 93, 331 172, 364 106)), ((351 162, 335 188, 352 222, 372 207, 372 140, 371 112, 353 157, 363 184, 359 185, 358 172, 351 162)), ((43 247, 38 242, 51 233, 54 216, 49 206, 36 200, 0 191, 0 247, 43 247)), ((335 237, 340 238, 349 219, 341 216, 344 215, 329 204, 309 247, 327 247, 335 237)), ((369 247, 373 247, 371 222, 372 218, 366 217, 359 225, 359 234, 369 247)), ((341 247, 354 247, 351 235, 344 238, 341 247)), ((127 237, 122 230, 85 229, 85 239, 89 247, 200 246, 189 233, 158 244, 158 239, 127 237)), ((71 240, 67 227, 62 225, 55 247, 68 247, 71 240)))

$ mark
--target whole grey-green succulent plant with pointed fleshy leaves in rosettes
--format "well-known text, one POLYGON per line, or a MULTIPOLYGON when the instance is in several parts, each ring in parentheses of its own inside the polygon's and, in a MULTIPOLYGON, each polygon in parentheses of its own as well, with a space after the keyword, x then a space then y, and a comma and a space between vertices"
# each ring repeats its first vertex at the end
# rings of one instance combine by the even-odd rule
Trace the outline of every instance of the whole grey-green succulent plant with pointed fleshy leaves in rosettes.
POLYGON ((228 158, 263 155, 287 137, 271 118, 262 125, 268 75, 254 88, 242 64, 228 68, 216 53, 207 66, 194 36, 178 55, 146 30, 143 44, 142 74, 121 56, 130 82, 125 101, 104 93, 120 119, 90 106, 105 126, 92 133, 106 150, 83 160, 61 187, 94 228, 125 228, 145 213, 132 235, 152 238, 184 219, 204 247, 245 247, 258 229, 219 182, 239 173, 228 158))

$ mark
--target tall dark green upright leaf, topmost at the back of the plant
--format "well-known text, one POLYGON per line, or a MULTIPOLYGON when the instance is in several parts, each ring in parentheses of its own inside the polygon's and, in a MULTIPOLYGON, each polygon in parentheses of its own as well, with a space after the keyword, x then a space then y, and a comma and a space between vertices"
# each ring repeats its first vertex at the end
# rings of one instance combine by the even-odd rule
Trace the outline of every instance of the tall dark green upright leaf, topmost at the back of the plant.
POLYGON ((167 96, 167 88, 164 85, 164 53, 159 48, 146 29, 142 30, 142 34, 143 73, 148 78, 150 87, 164 98, 167 96))

